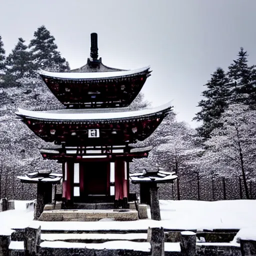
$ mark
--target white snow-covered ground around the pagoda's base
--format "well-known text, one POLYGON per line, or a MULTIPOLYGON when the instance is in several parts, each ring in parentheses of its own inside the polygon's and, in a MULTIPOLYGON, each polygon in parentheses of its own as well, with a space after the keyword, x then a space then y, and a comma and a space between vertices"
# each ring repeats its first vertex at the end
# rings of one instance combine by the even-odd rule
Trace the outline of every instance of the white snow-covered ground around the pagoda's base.
POLYGON ((11 228, 39 224, 42 229, 102 230, 147 229, 163 226, 168 229, 252 228, 256 226, 256 200, 193 201, 160 200, 161 221, 47 222, 33 221, 33 212, 25 208, 27 201, 15 201, 15 210, 0 212, 0 233, 11 228))

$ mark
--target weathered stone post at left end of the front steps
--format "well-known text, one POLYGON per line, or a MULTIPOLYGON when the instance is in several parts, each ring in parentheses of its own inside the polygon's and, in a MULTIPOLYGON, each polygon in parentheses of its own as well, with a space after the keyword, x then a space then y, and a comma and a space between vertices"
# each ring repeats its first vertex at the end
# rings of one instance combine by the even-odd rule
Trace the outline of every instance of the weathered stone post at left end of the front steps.
POLYGON ((28 226, 25 228, 24 251, 25 256, 37 256, 41 242, 41 227, 28 226))

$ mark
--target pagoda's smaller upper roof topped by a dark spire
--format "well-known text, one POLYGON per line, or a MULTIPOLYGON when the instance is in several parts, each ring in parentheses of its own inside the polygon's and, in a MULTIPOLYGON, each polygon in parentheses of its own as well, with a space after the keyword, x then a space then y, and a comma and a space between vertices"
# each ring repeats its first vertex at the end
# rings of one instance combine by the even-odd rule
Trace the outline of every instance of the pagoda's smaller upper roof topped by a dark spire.
POLYGON ((123 70, 104 65, 97 53, 97 34, 91 34, 90 58, 70 72, 39 71, 54 96, 68 108, 125 107, 135 99, 151 70, 123 70))

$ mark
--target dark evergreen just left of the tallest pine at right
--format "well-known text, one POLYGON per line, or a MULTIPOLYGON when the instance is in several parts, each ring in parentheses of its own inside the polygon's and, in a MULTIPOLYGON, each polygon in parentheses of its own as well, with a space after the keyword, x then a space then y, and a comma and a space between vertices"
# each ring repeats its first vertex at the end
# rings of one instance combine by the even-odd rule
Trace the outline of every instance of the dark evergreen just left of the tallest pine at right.
POLYGON ((218 67, 204 86, 207 87, 202 92, 204 98, 198 103, 201 110, 195 114, 196 116, 193 119, 202 121, 202 125, 197 128, 197 132, 199 136, 207 139, 210 132, 221 125, 219 117, 229 101, 228 78, 224 70, 218 67))

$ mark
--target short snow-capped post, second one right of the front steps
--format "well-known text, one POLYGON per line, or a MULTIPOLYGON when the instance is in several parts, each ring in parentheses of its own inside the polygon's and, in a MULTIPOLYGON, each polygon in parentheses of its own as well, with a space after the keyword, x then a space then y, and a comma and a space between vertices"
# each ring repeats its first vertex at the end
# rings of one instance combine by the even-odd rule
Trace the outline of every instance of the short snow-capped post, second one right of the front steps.
POLYGON ((194 232, 182 231, 180 232, 181 241, 180 249, 182 256, 195 256, 196 255, 196 236, 194 232))

